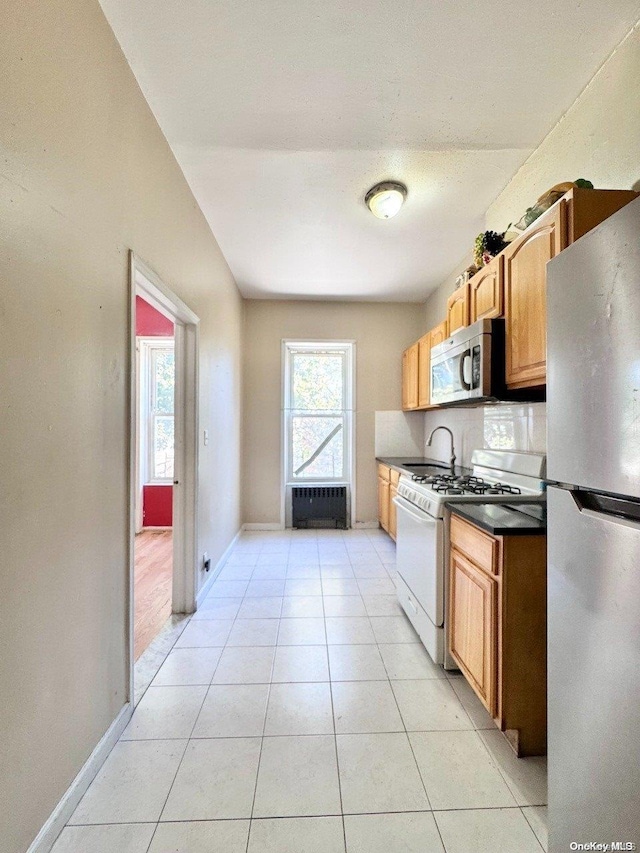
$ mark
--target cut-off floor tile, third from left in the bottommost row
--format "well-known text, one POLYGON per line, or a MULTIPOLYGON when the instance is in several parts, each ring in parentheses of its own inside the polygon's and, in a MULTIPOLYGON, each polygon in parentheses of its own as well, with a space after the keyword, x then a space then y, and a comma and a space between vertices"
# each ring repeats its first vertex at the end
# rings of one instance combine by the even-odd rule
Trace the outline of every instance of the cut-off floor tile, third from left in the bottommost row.
POLYGON ((345 853, 342 818, 253 820, 248 853, 345 853))

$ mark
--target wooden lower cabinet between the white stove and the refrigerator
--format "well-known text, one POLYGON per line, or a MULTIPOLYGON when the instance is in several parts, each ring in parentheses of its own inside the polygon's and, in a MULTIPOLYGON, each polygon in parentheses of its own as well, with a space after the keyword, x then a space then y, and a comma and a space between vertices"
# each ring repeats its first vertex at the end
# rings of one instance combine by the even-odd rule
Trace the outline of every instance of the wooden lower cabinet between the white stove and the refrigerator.
POLYGON ((544 755, 546 536, 494 537, 454 514, 450 545, 451 655, 516 754, 544 755))

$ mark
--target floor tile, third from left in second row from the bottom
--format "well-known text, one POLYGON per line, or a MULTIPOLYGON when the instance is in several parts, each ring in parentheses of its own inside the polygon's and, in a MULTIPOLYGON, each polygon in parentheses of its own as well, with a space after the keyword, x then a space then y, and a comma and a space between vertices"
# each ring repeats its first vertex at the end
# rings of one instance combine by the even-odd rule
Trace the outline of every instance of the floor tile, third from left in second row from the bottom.
POLYGON ((264 739, 254 817, 340 813, 338 768, 332 735, 264 739))

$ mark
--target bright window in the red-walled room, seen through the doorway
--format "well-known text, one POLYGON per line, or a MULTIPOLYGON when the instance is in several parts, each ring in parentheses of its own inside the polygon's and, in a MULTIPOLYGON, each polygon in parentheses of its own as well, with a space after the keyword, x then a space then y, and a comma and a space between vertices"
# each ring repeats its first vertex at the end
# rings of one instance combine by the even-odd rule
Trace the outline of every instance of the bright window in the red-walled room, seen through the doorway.
POLYGON ((173 482, 175 352, 172 338, 140 338, 143 483, 173 482))

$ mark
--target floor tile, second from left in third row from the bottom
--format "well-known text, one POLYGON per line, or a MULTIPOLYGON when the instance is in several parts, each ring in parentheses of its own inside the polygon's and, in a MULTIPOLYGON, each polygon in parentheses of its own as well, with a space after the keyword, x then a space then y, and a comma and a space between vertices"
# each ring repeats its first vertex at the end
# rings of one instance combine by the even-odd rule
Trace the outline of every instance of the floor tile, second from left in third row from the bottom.
POLYGON ((268 696, 268 684, 212 685, 192 737, 261 737, 268 696))

